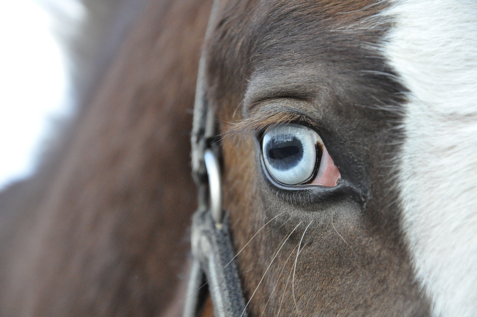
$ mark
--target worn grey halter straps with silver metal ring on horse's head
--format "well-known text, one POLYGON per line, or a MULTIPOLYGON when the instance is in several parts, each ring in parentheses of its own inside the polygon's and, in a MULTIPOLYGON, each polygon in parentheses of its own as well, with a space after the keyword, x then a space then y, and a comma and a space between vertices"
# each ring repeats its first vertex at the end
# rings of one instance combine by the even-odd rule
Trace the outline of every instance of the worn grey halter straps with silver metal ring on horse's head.
POLYGON ((228 218, 222 210, 220 148, 214 106, 207 97, 207 41, 214 26, 219 0, 214 0, 207 23, 197 74, 192 125, 192 176, 197 184, 197 211, 192 217, 193 264, 183 317, 197 317, 205 300, 206 282, 215 317, 247 317, 228 218))

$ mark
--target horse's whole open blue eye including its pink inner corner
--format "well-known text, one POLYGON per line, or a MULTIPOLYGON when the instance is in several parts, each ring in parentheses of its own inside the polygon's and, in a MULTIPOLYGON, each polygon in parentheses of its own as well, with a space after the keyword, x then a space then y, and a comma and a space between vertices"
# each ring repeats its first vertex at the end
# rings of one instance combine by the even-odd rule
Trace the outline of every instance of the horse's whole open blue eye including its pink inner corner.
POLYGON ((262 157, 270 175, 286 185, 311 182, 333 187, 341 179, 321 137, 309 127, 269 127, 262 139, 262 157))

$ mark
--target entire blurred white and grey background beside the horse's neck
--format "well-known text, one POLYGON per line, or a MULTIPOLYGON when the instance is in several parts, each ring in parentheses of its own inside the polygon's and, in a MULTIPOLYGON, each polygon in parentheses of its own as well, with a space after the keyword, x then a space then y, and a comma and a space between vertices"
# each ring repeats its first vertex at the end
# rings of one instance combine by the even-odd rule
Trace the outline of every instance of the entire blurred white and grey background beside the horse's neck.
POLYGON ((0 190, 74 124, 146 0, 0 0, 0 190))

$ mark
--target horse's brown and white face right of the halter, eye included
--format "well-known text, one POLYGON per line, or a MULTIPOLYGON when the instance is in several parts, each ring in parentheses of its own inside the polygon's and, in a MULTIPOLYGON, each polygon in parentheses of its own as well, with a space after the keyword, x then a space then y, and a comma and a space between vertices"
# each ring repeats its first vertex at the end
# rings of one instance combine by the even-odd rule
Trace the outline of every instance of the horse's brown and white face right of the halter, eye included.
POLYGON ((464 116, 475 103, 459 105, 475 81, 467 96, 447 90, 475 69, 445 49, 457 13, 436 18, 447 5, 430 2, 218 2, 205 95, 251 315, 471 316, 477 293, 461 270, 475 272, 475 235, 462 239, 474 181, 447 169, 457 153, 465 169, 474 160, 464 116))

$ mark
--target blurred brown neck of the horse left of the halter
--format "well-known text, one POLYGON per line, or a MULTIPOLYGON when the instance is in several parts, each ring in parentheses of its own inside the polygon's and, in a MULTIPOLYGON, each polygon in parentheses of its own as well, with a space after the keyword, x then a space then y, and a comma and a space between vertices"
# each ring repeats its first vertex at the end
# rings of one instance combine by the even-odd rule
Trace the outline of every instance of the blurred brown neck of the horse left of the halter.
POLYGON ((157 316, 171 304, 196 204, 190 110, 210 6, 153 1, 54 172, 30 182, 41 190, 2 210, 15 230, 2 316, 157 316))

